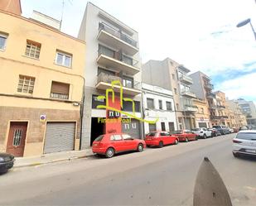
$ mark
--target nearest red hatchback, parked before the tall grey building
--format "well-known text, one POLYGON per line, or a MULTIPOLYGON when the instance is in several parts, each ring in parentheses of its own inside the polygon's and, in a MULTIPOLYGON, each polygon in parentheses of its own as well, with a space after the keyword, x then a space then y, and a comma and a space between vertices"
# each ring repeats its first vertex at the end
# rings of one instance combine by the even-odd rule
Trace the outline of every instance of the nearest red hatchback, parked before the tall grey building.
POLYGON ((110 158, 122 151, 143 151, 146 143, 143 140, 134 139, 128 134, 111 133, 97 137, 93 142, 92 150, 99 155, 110 158))

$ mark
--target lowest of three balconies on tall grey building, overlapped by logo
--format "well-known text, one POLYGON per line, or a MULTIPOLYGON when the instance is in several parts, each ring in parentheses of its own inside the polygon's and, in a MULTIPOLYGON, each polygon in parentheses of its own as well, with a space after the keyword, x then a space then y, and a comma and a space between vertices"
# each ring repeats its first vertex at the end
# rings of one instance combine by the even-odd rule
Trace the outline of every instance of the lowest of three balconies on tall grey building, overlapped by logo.
MULTIPOLYGON (((123 84, 123 79, 121 79, 120 77, 110 75, 110 74, 104 74, 103 72, 101 72, 98 75, 98 81, 95 87, 96 89, 103 89, 103 90, 110 89, 112 88, 111 82, 114 80, 118 80, 121 82, 121 84, 123 84)), ((114 92, 120 93, 120 86, 114 85, 114 92)), ((142 93, 141 84, 136 81, 131 82, 131 84, 126 84, 125 86, 123 86, 123 93, 131 96, 136 96, 142 93)))

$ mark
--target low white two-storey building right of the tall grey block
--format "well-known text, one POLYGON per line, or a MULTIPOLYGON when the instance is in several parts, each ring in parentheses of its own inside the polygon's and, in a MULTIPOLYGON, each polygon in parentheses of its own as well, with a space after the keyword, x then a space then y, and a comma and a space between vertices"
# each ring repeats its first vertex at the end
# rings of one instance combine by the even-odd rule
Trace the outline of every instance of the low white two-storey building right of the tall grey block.
POLYGON ((171 90, 142 83, 143 117, 146 120, 159 120, 154 124, 144 122, 144 134, 157 130, 173 132, 177 129, 174 100, 171 90))

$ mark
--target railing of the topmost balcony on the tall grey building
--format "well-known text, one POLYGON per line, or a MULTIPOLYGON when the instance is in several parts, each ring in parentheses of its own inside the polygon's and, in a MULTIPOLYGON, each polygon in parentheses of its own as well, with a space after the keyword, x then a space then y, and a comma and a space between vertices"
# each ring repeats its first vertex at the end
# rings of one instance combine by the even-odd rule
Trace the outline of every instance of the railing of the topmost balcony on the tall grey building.
POLYGON ((122 31, 118 31, 113 26, 110 26, 110 25, 108 25, 104 22, 100 22, 99 23, 99 32, 102 31, 102 30, 108 32, 109 34, 111 34, 115 37, 118 37, 118 39, 125 41, 129 45, 138 48, 137 47, 137 41, 133 40, 131 37, 127 36, 126 34, 123 34, 122 31))

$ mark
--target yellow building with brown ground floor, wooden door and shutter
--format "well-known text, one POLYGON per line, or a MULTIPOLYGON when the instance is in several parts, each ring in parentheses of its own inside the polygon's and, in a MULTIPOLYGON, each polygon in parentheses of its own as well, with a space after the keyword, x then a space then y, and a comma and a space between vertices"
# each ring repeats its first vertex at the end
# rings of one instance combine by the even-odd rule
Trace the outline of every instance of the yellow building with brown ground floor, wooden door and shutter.
POLYGON ((79 150, 85 42, 39 12, 20 16, 15 2, 14 11, 0 4, 0 152, 79 150))

